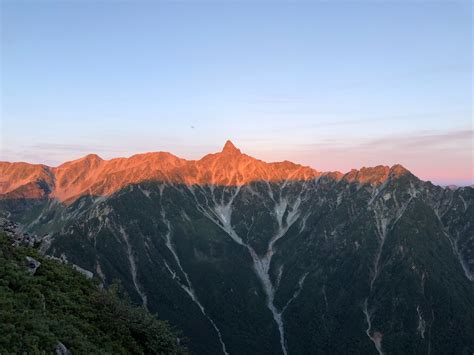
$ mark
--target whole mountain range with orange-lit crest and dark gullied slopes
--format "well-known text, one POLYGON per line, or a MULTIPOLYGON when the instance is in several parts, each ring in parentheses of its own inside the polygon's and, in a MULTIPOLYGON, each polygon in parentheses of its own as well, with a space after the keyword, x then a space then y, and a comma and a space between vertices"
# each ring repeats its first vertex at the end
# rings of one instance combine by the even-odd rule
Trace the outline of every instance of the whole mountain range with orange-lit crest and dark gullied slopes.
POLYGON ((197 161, 0 163, 0 211, 197 354, 474 351, 474 189, 400 165, 321 173, 231 142, 197 161))

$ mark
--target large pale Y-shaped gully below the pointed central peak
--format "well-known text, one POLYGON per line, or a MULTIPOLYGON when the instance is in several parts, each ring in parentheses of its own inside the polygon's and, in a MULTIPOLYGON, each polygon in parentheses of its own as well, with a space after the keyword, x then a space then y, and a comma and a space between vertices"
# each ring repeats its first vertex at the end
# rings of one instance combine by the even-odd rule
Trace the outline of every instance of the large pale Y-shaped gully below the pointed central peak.
MULTIPOLYGON (((299 282, 298 282, 298 289, 294 292, 293 296, 288 300, 286 305, 281 309, 278 310, 275 306, 274 299, 275 299, 275 286, 272 283, 270 278, 270 266, 273 255, 275 253, 275 243, 280 240, 288 231, 288 229, 297 221, 300 217, 299 207, 302 202, 302 196, 300 195, 296 198, 293 203, 290 203, 287 198, 282 198, 281 192, 285 187, 286 182, 281 186, 280 196, 279 199, 276 200, 274 198, 272 189, 269 184, 268 186, 268 193, 269 197, 274 202, 274 210, 273 214, 276 217, 278 223, 278 230, 270 239, 270 242, 267 247, 267 251, 263 256, 257 254, 257 252, 253 249, 253 247, 246 243, 234 230, 231 223, 232 217, 232 204, 239 194, 241 190, 241 186, 234 187, 234 191, 232 192, 228 201, 224 201, 224 194, 221 195, 221 199, 219 201, 216 200, 214 195, 214 190, 212 192, 212 206, 209 206, 209 200, 206 199, 206 205, 203 205, 199 202, 195 189, 202 189, 201 187, 188 187, 192 195, 194 196, 196 205, 198 209, 205 215, 209 220, 219 226, 222 230, 224 230, 237 244, 244 246, 250 253, 253 261, 253 268, 255 271, 256 276, 258 277, 259 281, 262 284, 263 290, 266 295, 266 304, 268 309, 273 315, 273 319, 278 326, 278 331, 280 335, 280 345, 284 355, 288 354, 286 340, 285 340, 285 330, 284 330, 284 322, 283 322, 283 313, 288 307, 288 305, 299 295, 301 289, 303 288, 304 281, 306 279, 307 274, 304 274, 299 282), (283 221, 283 217, 286 213, 286 219, 283 221)), ((306 185, 303 186, 302 190, 305 190, 306 185)), ((204 191, 201 191, 204 192, 204 191)), ((205 192, 204 192, 205 193, 205 192)), ((304 198, 304 196, 303 196, 304 198)), ((281 270, 280 270, 281 272, 281 270)), ((277 285, 278 287, 278 285, 277 285)))

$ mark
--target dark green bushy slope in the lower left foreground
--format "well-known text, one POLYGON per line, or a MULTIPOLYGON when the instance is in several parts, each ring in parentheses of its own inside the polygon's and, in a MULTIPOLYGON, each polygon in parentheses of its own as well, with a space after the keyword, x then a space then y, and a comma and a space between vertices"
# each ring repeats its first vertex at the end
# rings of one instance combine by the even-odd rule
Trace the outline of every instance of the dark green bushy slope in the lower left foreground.
POLYGON ((164 322, 118 296, 100 290, 68 265, 12 247, 0 233, 0 353, 184 354, 164 322), (26 257, 41 262, 32 275, 26 257))

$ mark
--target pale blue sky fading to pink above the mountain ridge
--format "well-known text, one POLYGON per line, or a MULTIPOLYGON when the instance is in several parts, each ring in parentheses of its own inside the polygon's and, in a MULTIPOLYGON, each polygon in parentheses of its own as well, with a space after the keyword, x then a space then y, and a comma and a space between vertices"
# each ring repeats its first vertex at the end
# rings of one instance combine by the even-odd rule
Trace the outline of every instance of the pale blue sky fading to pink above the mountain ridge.
POLYGON ((0 0, 0 160, 231 139, 266 161, 473 184, 471 1, 0 0))

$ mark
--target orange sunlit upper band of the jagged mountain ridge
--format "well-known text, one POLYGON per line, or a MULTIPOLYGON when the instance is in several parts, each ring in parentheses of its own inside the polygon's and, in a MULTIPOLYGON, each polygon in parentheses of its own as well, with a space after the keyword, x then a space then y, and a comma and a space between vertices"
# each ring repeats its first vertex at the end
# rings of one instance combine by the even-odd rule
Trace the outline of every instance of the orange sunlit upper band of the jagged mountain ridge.
POLYGON ((200 160, 186 160, 158 152, 111 160, 90 154, 58 167, 3 162, 0 163, 0 195, 3 198, 42 198, 47 195, 72 203, 84 195, 107 196, 127 185, 145 181, 241 186, 255 181, 308 181, 324 175, 334 180, 344 178, 348 182, 380 184, 390 174, 406 172, 402 166, 395 165, 392 168, 362 168, 345 175, 340 172, 322 173, 289 161, 266 163, 241 153, 227 141, 221 152, 208 154, 200 160))

